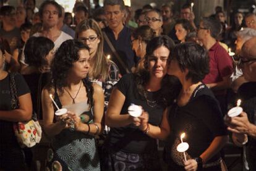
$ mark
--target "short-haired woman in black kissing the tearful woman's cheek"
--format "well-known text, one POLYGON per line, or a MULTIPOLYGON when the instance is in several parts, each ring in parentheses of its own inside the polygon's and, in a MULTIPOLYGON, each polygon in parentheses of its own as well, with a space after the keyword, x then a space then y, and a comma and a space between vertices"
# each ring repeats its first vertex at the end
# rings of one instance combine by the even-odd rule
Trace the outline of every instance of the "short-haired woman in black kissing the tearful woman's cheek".
POLYGON ((209 72, 207 51, 196 43, 182 43, 171 53, 169 75, 181 81, 182 90, 169 110, 171 134, 166 141, 165 159, 169 170, 221 170, 219 151, 228 140, 220 106, 202 83, 209 72), (177 151, 183 141, 189 144, 184 162, 177 151))

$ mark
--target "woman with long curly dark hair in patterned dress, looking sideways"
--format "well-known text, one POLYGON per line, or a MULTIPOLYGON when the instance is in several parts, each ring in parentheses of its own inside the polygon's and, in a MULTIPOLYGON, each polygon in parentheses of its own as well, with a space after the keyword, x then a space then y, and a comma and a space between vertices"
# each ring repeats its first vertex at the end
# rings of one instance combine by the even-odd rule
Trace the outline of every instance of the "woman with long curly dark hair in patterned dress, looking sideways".
POLYGON ((48 151, 50 169, 100 170, 95 135, 101 130, 104 95, 88 80, 90 49, 77 40, 67 40, 57 50, 51 66, 53 81, 43 89, 43 123, 52 137, 48 151), (56 116, 56 107, 67 113, 56 116))

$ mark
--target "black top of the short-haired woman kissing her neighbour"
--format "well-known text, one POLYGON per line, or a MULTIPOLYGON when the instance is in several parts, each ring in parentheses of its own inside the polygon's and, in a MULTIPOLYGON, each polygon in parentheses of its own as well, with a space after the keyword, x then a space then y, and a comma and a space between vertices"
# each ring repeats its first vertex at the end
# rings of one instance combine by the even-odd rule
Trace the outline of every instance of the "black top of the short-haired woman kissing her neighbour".
MULTIPOLYGON (((189 144, 186 151, 192 158, 200 156, 215 136, 227 135, 220 106, 213 93, 205 85, 199 85, 185 106, 174 103, 169 111, 171 134, 166 141, 166 159, 174 165, 183 165, 183 153, 177 151, 181 133, 186 133, 184 142, 189 144)), ((220 154, 211 157, 216 161, 220 154)), ((190 158, 189 158, 190 159, 190 158)))

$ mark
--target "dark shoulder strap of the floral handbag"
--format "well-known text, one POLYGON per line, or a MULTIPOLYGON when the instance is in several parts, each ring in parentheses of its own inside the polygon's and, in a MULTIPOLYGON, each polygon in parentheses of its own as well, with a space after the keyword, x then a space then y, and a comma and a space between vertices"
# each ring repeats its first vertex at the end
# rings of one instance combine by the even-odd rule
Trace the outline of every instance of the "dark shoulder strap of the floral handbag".
POLYGON ((10 74, 11 108, 17 109, 19 108, 19 98, 17 96, 17 89, 15 85, 15 75, 17 73, 9 73, 9 74, 10 74))

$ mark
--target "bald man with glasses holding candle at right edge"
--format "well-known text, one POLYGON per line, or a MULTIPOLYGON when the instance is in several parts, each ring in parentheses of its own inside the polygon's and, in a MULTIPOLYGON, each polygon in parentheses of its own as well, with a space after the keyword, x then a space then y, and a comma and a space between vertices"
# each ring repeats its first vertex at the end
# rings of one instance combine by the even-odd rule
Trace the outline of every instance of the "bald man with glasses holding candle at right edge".
POLYGON ((243 111, 237 117, 227 117, 228 130, 233 132, 233 141, 238 146, 246 144, 245 162, 247 170, 256 170, 256 36, 242 46, 239 65, 244 78, 249 82, 242 84, 238 91, 242 99, 243 111))

